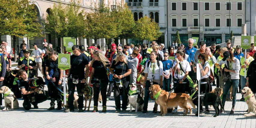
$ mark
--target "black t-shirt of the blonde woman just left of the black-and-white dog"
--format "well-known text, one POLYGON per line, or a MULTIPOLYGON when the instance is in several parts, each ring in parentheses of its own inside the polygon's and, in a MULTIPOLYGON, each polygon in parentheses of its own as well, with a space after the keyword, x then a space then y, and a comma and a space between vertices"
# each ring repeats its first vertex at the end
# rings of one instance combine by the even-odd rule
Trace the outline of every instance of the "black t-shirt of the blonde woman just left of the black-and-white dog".
MULTIPOLYGON (((111 68, 114 69, 114 73, 119 76, 119 75, 123 75, 125 74, 129 69, 131 69, 131 64, 130 62, 127 61, 127 64, 125 64, 124 66, 122 66, 124 62, 118 62, 116 63, 116 61, 113 61, 112 64, 111 64, 111 68), (123 71, 123 72, 122 72, 123 71)), ((130 75, 122 78, 122 81, 123 82, 126 82, 126 81, 130 81, 130 75)))

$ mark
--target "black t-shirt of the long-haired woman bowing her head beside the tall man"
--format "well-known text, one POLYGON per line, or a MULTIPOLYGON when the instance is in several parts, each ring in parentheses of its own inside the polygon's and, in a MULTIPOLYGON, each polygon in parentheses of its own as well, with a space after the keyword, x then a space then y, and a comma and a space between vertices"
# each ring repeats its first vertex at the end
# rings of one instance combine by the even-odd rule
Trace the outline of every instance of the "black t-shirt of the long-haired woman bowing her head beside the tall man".
POLYGON ((96 79, 106 79, 107 78, 107 67, 110 67, 110 64, 106 65, 106 68, 102 64, 101 61, 94 61, 92 64, 94 68, 94 75, 93 77, 96 79))

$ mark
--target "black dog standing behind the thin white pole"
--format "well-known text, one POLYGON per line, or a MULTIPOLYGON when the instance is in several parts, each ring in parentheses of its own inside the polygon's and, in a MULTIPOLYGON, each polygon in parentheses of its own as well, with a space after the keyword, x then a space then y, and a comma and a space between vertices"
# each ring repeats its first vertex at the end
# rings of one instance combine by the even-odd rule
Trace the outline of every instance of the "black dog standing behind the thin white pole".
MULTIPOLYGON (((189 88, 189 95, 192 95, 195 91, 196 91, 195 88, 190 87, 189 88)), ((193 100, 193 103, 197 106, 197 104, 198 104, 198 93, 197 93, 197 91, 191 98, 193 100)), ((203 106, 212 105, 214 110, 215 110, 215 115, 213 117, 216 117, 216 116, 219 115, 219 113, 220 113, 219 105, 221 106, 221 109, 223 109, 223 111, 224 111, 224 107, 221 103, 221 98, 215 93, 207 93, 207 94, 204 94, 204 96, 200 96, 200 104, 203 105, 203 106)), ((197 106, 197 108, 198 108, 198 106, 197 106)), ((202 108, 200 108, 200 113, 202 111, 203 111, 202 108)))

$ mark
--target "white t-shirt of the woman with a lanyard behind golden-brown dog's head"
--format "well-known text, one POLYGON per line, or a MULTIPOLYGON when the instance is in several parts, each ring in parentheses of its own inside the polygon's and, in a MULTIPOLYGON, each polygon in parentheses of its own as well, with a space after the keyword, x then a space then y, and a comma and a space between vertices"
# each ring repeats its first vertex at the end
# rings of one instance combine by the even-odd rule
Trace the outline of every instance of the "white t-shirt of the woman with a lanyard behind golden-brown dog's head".
POLYGON ((159 61, 159 67, 157 61, 155 63, 146 62, 144 73, 148 73, 147 79, 153 79, 152 75, 155 76, 155 80, 160 80, 160 76, 163 76, 163 63, 159 61), (148 67, 149 63, 149 67, 148 67), (152 73, 152 65, 155 66, 154 74, 152 73), (160 67, 160 68, 159 68, 160 67))

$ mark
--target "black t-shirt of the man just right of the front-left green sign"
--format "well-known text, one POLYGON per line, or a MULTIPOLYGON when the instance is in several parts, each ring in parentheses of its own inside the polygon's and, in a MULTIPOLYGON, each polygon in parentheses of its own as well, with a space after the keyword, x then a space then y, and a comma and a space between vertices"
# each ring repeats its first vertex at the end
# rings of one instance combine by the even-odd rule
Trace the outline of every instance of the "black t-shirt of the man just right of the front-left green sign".
POLYGON ((69 77, 78 76, 79 80, 84 79, 85 65, 89 64, 86 55, 71 55, 70 57, 71 69, 69 77))

